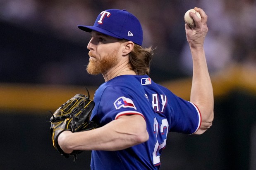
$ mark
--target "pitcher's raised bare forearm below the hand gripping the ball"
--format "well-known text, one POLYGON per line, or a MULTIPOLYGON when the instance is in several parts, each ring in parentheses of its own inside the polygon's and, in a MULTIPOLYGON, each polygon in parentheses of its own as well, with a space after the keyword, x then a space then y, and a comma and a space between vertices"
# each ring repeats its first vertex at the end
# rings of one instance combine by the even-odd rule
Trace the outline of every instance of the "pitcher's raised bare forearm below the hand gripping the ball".
POLYGON ((190 101, 201 112, 201 128, 197 134, 201 134, 211 127, 213 121, 213 87, 208 72, 205 52, 203 47, 191 48, 193 58, 193 79, 190 101))

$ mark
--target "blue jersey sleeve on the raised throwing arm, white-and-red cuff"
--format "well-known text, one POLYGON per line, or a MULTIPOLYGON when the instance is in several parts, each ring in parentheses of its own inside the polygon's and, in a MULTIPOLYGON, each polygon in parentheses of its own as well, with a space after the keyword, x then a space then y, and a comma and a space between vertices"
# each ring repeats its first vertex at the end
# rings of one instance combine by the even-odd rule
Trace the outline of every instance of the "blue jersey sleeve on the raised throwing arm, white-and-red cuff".
POLYGON ((172 94, 170 107, 172 110, 170 131, 193 134, 200 128, 201 113, 192 102, 172 94))

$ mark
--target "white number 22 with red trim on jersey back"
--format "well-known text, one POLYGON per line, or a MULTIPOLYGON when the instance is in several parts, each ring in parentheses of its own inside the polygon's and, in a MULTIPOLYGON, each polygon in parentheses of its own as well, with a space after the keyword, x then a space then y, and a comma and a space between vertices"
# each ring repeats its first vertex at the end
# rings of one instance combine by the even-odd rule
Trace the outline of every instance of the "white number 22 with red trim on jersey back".
POLYGON ((155 166, 160 164, 160 153, 162 152, 160 150, 165 148, 168 127, 169 127, 167 119, 162 119, 160 123, 161 123, 161 126, 160 126, 160 134, 159 134, 158 121, 155 117, 154 133, 156 134, 156 144, 155 144, 154 152, 153 152, 153 163, 155 166), (159 153, 159 151, 160 151, 160 153, 159 153))

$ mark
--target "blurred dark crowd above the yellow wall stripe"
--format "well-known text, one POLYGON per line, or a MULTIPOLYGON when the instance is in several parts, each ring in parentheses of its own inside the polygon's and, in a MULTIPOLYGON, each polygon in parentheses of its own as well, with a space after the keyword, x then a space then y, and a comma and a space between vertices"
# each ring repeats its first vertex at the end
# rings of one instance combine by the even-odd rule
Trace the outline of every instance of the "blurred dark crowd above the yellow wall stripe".
POLYGON ((236 63, 255 68, 255 0, 0 0, 0 82, 103 83, 101 76, 86 74, 90 35, 77 25, 93 25, 101 11, 114 8, 137 16, 144 29, 143 46, 156 47, 152 79, 190 76, 184 14, 194 7, 208 15, 210 72, 236 63))

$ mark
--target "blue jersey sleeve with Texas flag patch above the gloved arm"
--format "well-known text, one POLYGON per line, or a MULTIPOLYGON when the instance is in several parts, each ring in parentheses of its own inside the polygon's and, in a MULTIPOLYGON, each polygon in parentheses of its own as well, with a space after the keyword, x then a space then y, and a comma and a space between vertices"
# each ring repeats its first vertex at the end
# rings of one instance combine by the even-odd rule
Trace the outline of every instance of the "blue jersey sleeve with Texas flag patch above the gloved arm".
POLYGON ((100 103, 98 103, 95 111, 97 117, 100 118, 99 123, 101 125, 118 119, 122 115, 138 114, 143 116, 138 102, 127 88, 108 86, 97 97, 100 98, 98 100, 100 103))

